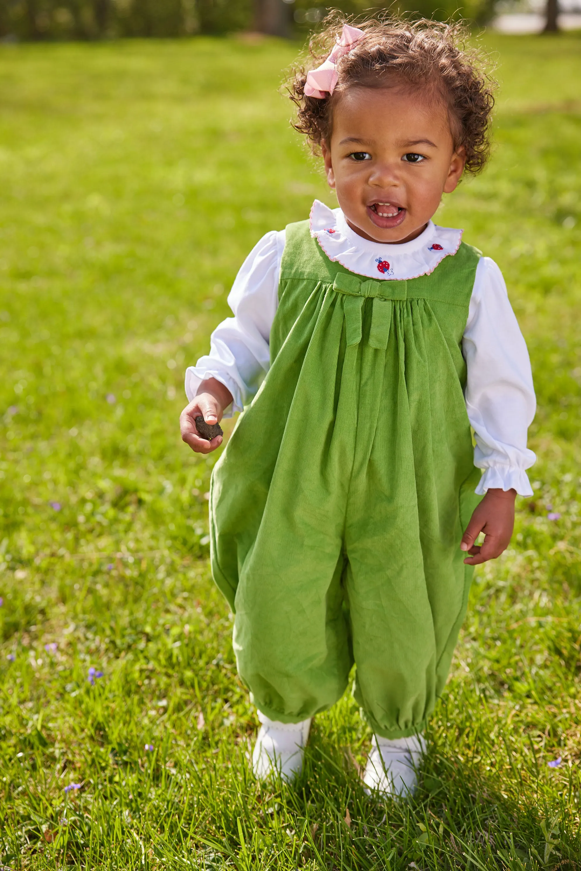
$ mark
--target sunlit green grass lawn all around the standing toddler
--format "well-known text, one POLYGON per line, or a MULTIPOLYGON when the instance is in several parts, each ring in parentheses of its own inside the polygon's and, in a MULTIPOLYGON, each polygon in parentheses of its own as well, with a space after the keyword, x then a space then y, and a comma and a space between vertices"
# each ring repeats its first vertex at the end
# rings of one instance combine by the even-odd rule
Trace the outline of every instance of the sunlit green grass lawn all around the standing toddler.
POLYGON ((0 48, 3 866, 581 868, 581 39, 485 42, 496 152, 438 219, 510 287, 537 492, 476 573, 400 806, 362 793, 370 735, 348 696, 294 788, 253 782, 207 564, 215 457, 179 440, 184 368, 241 260, 333 202, 276 92, 295 46, 0 48))

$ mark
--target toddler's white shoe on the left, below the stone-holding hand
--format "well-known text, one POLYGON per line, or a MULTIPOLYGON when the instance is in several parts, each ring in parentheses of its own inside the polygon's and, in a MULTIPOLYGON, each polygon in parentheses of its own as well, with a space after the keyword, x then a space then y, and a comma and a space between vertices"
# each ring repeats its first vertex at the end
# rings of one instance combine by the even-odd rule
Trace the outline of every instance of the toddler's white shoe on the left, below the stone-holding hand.
POLYGON ((301 723, 279 723, 258 712, 260 726, 253 750, 253 773, 258 780, 266 780, 279 773, 287 783, 302 770, 304 746, 307 744, 311 720, 301 723))

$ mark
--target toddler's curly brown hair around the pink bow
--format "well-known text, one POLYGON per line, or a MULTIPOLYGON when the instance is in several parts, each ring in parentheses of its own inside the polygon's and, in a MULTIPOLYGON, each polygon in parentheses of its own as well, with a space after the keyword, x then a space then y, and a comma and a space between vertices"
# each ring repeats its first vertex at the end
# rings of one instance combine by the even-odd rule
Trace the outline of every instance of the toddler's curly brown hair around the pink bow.
POLYGON ((425 18, 412 22, 393 15, 355 22, 337 11, 323 24, 325 29, 309 42, 308 60, 293 71, 287 84, 299 109, 294 128, 307 136, 314 153, 322 140, 329 141, 334 107, 349 87, 404 85, 429 89, 430 96, 443 101, 455 149, 463 147, 466 153, 466 171, 476 174, 483 169, 490 154, 496 82, 488 58, 467 47, 469 31, 464 24, 425 18), (321 99, 306 97, 307 71, 328 57, 343 24, 356 24, 365 36, 337 62, 339 79, 333 94, 321 99))

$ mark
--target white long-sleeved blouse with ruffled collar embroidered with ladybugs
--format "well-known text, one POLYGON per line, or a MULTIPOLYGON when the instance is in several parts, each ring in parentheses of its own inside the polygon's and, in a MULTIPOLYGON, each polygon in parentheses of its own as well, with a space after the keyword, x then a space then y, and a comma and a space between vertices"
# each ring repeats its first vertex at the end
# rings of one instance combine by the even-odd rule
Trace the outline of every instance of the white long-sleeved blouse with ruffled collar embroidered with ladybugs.
MULTIPOLYGON (((341 209, 315 200, 311 235, 331 260, 351 272, 375 280, 405 280, 433 272, 444 257, 456 253, 462 230, 430 221, 423 233, 402 245, 372 242, 351 230, 341 209)), ((210 354, 186 370, 188 400, 200 381, 216 378, 233 395, 226 416, 251 402, 270 365, 284 246, 285 231, 273 231, 248 254, 228 296, 233 318, 213 331, 210 354)), ((525 471, 536 460, 526 446, 536 408, 529 354, 503 275, 490 257, 482 257, 476 267, 462 348, 468 373, 466 410, 476 438, 474 463, 484 469, 476 493, 497 487, 532 496, 525 471)))

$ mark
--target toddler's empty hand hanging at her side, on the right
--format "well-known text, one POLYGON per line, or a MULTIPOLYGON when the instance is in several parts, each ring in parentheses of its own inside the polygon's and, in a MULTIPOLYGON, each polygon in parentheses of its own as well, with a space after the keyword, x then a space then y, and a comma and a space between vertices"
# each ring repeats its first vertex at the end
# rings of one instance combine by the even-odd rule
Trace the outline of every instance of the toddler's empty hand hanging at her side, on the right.
POLYGON ((487 490, 462 537, 460 549, 470 553, 464 563, 485 563, 500 557, 507 549, 515 525, 516 497, 517 490, 487 490), (483 544, 474 544, 480 532, 484 533, 483 544))

